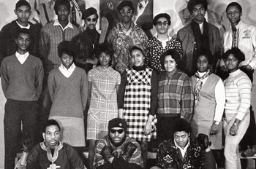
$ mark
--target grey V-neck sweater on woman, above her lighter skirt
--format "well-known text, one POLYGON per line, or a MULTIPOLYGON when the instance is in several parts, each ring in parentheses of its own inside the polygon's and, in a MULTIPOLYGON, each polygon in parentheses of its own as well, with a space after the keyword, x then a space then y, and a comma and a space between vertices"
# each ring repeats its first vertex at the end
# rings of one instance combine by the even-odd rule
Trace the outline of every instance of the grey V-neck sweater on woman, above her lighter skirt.
POLYGON ((75 70, 67 78, 59 68, 50 71, 48 89, 53 105, 50 116, 83 118, 88 96, 88 77, 83 68, 75 70))

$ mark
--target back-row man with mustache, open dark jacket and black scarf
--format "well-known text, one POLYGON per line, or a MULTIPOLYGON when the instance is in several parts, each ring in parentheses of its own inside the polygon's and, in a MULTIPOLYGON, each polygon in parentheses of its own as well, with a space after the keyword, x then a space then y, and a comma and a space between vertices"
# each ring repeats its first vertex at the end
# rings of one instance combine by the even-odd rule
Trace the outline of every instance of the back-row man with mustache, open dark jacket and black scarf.
POLYGON ((190 0, 187 4, 193 20, 178 31, 177 38, 182 45, 182 63, 184 72, 189 76, 195 74, 197 55, 201 50, 210 50, 213 55, 211 71, 215 71, 218 56, 221 52, 219 29, 205 19, 207 1, 190 0))

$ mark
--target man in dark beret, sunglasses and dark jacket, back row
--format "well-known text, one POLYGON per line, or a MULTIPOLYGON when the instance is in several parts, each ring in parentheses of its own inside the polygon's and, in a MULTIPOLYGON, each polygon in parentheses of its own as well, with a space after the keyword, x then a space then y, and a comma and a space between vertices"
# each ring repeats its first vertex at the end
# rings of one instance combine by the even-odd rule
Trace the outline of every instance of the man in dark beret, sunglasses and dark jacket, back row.
POLYGON ((97 9, 93 7, 86 9, 82 17, 86 23, 86 30, 72 39, 80 47, 75 60, 76 65, 86 70, 86 73, 93 68, 93 65, 97 64, 97 58, 94 57, 94 49, 99 44, 100 34, 96 30, 98 17, 97 9))

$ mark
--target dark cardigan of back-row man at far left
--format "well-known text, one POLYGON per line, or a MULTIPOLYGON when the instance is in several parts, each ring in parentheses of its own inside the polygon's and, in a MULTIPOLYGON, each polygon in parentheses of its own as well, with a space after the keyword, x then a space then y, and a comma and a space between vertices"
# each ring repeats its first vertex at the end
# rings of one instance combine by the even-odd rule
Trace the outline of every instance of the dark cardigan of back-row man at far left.
MULTIPOLYGON (((30 34, 31 34, 31 44, 29 45, 29 53, 36 57, 39 57, 39 31, 42 28, 40 25, 33 25, 29 22, 30 34)), ((1 60, 5 57, 15 54, 16 52, 16 42, 15 39, 18 36, 18 31, 20 26, 17 20, 13 20, 11 23, 4 25, 0 31, 0 64, 1 60)))

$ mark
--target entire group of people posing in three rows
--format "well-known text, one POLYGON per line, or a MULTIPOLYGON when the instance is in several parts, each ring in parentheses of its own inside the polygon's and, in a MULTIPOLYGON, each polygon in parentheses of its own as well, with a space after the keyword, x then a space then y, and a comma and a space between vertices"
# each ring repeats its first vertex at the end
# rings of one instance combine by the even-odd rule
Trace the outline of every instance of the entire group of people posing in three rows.
POLYGON ((146 168, 151 141, 153 168, 217 168, 223 147, 225 168, 241 168, 239 144, 243 156, 256 153, 256 28, 241 21, 241 5, 227 5, 222 38, 205 18, 207 0, 190 0, 192 20, 177 39, 167 13, 148 39, 134 22, 147 3, 121 1, 120 21, 99 43, 93 7, 80 32, 68 0, 55 1, 58 19, 42 28, 29 23, 29 2, 17 2, 17 20, 0 32, 4 168, 85 168, 86 140, 88 167, 98 169, 146 168))

